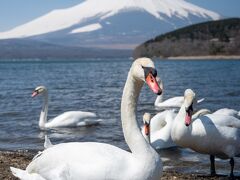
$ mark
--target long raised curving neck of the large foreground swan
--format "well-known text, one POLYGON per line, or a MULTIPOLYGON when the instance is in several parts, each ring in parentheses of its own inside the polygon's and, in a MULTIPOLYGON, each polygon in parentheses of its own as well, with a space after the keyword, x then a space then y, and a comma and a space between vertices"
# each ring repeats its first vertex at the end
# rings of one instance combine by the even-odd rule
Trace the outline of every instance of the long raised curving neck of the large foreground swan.
POLYGON ((136 120, 137 100, 142 86, 143 82, 135 79, 130 71, 122 95, 121 119, 124 138, 132 153, 149 155, 151 146, 144 139, 136 120))

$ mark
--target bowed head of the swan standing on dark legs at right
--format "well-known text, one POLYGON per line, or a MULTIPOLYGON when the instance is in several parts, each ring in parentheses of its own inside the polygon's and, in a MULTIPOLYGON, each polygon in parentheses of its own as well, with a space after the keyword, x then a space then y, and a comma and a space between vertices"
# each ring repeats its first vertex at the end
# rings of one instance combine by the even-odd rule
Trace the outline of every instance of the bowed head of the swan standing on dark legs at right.
POLYGON ((184 103, 186 116, 185 116, 185 125, 189 126, 192 121, 193 114, 193 104, 196 103, 196 94, 191 89, 186 89, 184 92, 184 103))

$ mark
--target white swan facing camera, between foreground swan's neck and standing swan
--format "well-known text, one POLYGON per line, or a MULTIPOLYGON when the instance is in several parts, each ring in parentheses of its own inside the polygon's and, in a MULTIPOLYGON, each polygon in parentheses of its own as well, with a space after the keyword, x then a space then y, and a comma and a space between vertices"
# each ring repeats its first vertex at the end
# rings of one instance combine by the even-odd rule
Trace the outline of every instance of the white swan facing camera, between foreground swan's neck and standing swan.
MULTIPOLYGON (((207 109, 200 109, 193 114, 193 119, 202 115, 209 114, 207 109)), ((149 113, 143 116, 144 128, 142 133, 155 149, 166 149, 177 146, 171 137, 171 129, 174 118, 176 117, 175 110, 165 110, 156 114, 149 120, 149 113)))

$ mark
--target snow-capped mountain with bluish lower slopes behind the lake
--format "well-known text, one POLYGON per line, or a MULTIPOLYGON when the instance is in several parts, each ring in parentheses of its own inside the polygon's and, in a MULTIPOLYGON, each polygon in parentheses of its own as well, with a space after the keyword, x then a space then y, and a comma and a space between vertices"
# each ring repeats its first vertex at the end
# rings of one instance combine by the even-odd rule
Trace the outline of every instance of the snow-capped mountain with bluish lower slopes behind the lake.
POLYGON ((0 39, 131 48, 161 33, 220 18, 219 14, 184 0, 85 0, 0 32, 0 39))

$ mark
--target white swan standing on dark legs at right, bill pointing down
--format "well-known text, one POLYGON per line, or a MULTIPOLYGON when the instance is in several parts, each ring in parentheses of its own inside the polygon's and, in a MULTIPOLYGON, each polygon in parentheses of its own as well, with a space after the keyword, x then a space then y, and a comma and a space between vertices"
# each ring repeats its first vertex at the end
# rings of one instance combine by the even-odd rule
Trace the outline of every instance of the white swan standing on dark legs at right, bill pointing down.
POLYGON ((240 121, 233 116, 209 114, 192 121, 195 93, 187 89, 171 131, 173 141, 179 146, 209 154, 211 174, 215 174, 214 157, 230 158, 233 176, 234 157, 240 155, 240 121))

